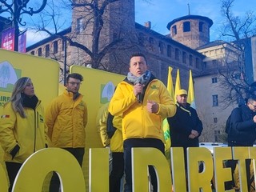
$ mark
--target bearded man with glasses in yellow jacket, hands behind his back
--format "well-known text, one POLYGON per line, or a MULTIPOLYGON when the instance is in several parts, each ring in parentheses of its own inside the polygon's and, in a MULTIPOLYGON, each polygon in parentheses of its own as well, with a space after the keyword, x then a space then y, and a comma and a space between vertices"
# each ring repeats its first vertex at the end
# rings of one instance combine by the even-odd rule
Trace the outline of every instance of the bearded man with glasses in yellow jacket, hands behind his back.
MULTIPOLYGON (((79 88, 81 74, 69 74, 66 78, 66 90, 55 98, 46 110, 46 126, 54 147, 70 152, 82 166, 86 146, 87 107, 79 88)), ((50 181, 50 192, 58 191, 60 182, 54 173, 50 181)))

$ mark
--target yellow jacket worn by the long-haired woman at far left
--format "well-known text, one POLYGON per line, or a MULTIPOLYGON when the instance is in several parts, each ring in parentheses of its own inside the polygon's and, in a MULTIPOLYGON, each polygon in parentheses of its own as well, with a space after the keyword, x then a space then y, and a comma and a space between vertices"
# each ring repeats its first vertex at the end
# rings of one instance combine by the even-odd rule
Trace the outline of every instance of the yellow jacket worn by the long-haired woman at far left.
POLYGON ((41 102, 35 110, 24 107, 26 118, 15 113, 11 103, 6 103, 0 119, 0 141, 5 151, 6 162, 25 162, 31 154, 46 147, 47 129, 44 122, 44 111, 41 102), (10 152, 19 146, 14 158, 10 152))

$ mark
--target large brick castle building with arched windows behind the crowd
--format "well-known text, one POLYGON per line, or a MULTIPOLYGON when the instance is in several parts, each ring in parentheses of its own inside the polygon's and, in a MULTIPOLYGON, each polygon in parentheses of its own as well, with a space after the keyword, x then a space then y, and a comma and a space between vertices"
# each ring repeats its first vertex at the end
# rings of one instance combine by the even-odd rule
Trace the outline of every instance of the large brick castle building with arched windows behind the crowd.
MULTIPOLYGON (((93 23, 86 22, 90 15, 84 16, 85 12, 82 9, 84 8, 78 8, 78 10, 73 11, 72 26, 67 30, 63 30, 61 33, 74 37, 89 49, 94 49, 92 47, 93 23)), ((186 46, 184 42, 178 42, 171 33, 169 35, 158 34, 150 29, 150 22, 146 22, 144 26, 135 22, 134 0, 111 3, 106 9, 104 16, 106 20, 102 26, 98 44, 99 50, 104 49, 117 36, 126 37, 126 42, 129 41, 129 47, 120 46, 116 50, 106 54, 102 59, 102 66, 98 67, 99 69, 118 74, 126 74, 130 54, 139 51, 146 54, 150 70, 165 84, 167 82, 168 66, 174 69, 173 78, 176 77, 177 69, 180 70, 182 88, 184 89, 188 88, 189 70, 191 69, 194 75, 201 72, 202 60, 205 56, 194 50, 193 46, 191 48, 190 46, 186 46)), ((212 25, 210 18, 194 15, 188 15, 186 18, 190 18, 194 38, 198 41, 197 45, 199 46, 207 42, 207 39, 209 42, 209 30, 212 25), (194 30, 193 25, 198 26, 199 24, 196 23, 201 22, 204 22, 203 30, 199 31, 199 27, 194 30)), ((175 25, 175 21, 170 23, 175 25)), ((181 23, 182 20, 178 22, 181 23)), ((180 30, 177 31, 176 35, 179 35, 179 32, 180 30)), ((184 36, 186 33, 182 32, 182 34, 184 36)), ((191 44, 194 45, 195 42, 191 44)), ((85 51, 74 46, 69 46, 68 44, 67 49, 65 49, 64 45, 65 43, 61 38, 57 38, 56 36, 56 39, 53 39, 50 37, 27 47, 27 53, 57 59, 60 62, 61 68, 63 68, 65 58, 63 56, 66 50, 66 66, 90 66, 90 59, 85 51), (58 52, 56 52, 56 47, 58 47, 58 52)))

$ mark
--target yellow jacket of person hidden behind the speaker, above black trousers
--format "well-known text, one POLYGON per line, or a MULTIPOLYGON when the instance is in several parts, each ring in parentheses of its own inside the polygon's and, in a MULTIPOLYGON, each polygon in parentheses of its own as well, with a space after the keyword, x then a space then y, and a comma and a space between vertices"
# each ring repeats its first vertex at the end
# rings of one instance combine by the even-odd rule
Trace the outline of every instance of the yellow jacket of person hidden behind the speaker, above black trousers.
POLYGON ((123 152, 123 139, 122 139, 122 116, 114 116, 113 126, 117 128, 110 139, 110 150, 112 152, 123 152))

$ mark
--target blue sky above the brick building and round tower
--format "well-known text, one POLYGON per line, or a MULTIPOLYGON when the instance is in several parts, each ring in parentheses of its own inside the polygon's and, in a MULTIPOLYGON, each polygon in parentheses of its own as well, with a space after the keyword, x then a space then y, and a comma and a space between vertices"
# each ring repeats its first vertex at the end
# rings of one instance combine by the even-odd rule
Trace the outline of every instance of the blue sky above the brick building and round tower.
MULTIPOLYGON (((218 29, 222 25, 223 17, 220 13, 221 0, 135 0, 135 21, 141 25, 150 21, 152 30, 160 34, 169 34, 166 26, 175 18, 189 14, 206 16, 213 20, 214 25, 210 28, 210 41, 219 39, 218 29)), ((232 8, 234 14, 244 15, 248 10, 255 10, 256 0, 235 0, 232 8)), ((28 31, 27 46, 46 38, 43 34, 34 34, 28 31)))

